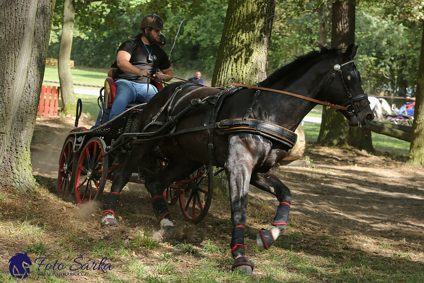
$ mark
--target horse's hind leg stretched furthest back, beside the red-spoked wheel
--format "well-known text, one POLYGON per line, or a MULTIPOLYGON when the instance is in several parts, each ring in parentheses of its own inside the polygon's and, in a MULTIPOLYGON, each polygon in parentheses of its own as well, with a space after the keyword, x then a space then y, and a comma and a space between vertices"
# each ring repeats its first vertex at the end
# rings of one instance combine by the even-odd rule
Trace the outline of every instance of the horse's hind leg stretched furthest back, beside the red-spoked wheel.
POLYGON ((131 153, 122 164, 113 173, 113 182, 110 188, 110 194, 103 205, 103 217, 100 225, 104 229, 116 229, 118 221, 115 218, 116 205, 118 203, 119 194, 124 186, 130 180, 133 169, 140 163, 140 160, 149 152, 151 147, 134 145, 131 153))

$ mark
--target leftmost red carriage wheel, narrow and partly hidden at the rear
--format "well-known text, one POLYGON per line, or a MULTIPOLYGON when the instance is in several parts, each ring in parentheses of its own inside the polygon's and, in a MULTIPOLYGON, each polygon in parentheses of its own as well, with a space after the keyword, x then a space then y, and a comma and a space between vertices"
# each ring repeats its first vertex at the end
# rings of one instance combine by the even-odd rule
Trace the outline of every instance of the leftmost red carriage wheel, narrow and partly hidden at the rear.
POLYGON ((57 192, 63 197, 67 191, 71 190, 74 184, 74 139, 68 138, 63 146, 59 159, 59 174, 57 175, 57 192))

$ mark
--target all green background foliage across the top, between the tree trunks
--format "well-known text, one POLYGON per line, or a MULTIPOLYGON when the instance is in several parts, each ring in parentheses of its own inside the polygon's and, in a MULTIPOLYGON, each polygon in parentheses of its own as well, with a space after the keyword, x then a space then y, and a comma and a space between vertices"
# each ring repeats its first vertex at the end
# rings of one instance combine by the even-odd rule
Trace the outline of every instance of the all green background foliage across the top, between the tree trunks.
MULTIPOLYGON (((406 87, 417 83, 423 0, 360 1, 356 9, 355 42, 360 46, 355 58, 365 92, 369 94, 405 95, 406 87)), ((75 31, 71 59, 76 66, 109 68, 116 60, 119 45, 140 32, 144 15, 159 14, 167 30, 164 50, 171 61, 219 42, 225 19, 226 0, 112 0, 76 1, 75 31)), ((278 1, 275 14, 281 20, 273 23, 268 55, 268 74, 316 48, 319 23, 327 26, 327 43, 331 34, 331 1, 278 1), (318 9, 320 12, 318 12, 318 9)), ((63 0, 56 1, 47 57, 57 58, 61 36, 63 0)), ((219 45, 194 53, 173 63, 175 70, 199 69, 204 76, 213 73, 219 45)), ((186 77, 187 78, 187 77, 186 77)))

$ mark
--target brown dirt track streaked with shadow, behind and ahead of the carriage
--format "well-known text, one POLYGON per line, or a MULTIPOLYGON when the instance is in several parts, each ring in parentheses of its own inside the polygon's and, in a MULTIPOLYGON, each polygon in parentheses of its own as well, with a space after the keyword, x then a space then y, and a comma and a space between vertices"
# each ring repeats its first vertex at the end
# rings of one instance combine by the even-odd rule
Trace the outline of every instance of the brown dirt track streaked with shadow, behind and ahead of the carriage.
MULTIPOLYGON (((73 123, 72 119, 63 118, 37 121, 31 143, 34 175, 56 178, 62 143, 73 128, 73 123)), ((87 123, 90 125, 91 122, 87 123)), ((84 121, 80 122, 81 125, 84 125, 84 121)), ((315 168, 282 166, 274 169, 291 189, 293 205, 290 215, 293 222, 302 223, 304 231, 309 231, 310 235, 316 229, 331 231, 332 235, 345 237, 347 241, 353 234, 362 235, 360 242, 363 244, 356 246, 364 252, 385 256, 378 247, 382 242, 387 242, 391 243, 393 251, 414 251, 412 260, 423 261, 422 167, 405 166, 404 160, 396 156, 376 156, 365 151, 310 144, 305 155, 313 160, 315 168)), ((135 186, 134 189, 139 190, 138 193, 133 192, 138 197, 147 199, 146 190, 142 186, 135 186)), ((126 194, 123 194, 121 201, 131 204, 134 195, 126 194)), ((254 187, 251 187, 249 195, 259 202, 277 204, 271 195, 254 187)), ((138 202, 139 208, 145 205, 147 202, 144 200, 138 202)), ((204 220, 205 226, 213 225, 213 218, 217 215, 229 221, 228 211, 222 214, 216 211, 216 207, 217 204, 212 201, 210 214, 213 217, 204 220)), ((154 225, 153 216, 151 218, 148 222, 154 225)), ((180 219, 176 217, 176 220, 178 224, 180 219)), ((123 221, 129 226, 140 224, 131 224, 130 214, 123 215, 123 221)), ((247 225, 260 228, 255 221, 248 217, 247 225)), ((304 250, 316 249, 303 240, 297 244, 304 250)), ((320 245, 326 244, 323 242, 320 245)))

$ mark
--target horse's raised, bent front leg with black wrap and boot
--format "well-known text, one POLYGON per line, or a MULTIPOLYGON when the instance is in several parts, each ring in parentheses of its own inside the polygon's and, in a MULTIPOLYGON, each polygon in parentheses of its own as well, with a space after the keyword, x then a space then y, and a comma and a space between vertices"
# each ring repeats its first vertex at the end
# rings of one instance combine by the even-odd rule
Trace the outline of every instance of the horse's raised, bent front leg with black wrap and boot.
POLYGON ((288 215, 291 206, 290 189, 284 185, 277 176, 269 170, 266 173, 253 174, 250 179, 250 184, 273 194, 280 204, 277 207, 272 227, 261 229, 256 237, 256 243, 260 251, 268 250, 277 240, 277 238, 286 230, 288 215))

